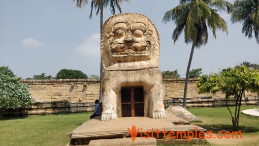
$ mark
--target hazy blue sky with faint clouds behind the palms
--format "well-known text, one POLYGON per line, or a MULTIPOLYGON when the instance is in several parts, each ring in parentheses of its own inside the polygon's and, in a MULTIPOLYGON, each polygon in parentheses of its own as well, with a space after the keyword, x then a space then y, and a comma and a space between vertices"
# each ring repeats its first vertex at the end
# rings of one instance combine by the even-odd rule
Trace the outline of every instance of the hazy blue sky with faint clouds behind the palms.
MULTIPOLYGON (((174 22, 162 22, 164 13, 178 5, 176 0, 131 0, 121 7, 122 13, 141 13, 154 23, 160 37, 160 70, 178 70, 185 78, 191 44, 184 43, 183 35, 174 44, 174 22)), ((259 64, 255 39, 242 34, 242 23, 232 24, 230 15, 219 14, 228 23, 228 35, 219 30, 214 39, 209 30, 208 43, 195 49, 190 69, 210 74, 245 61, 259 64)), ((1 0, 0 66, 9 66, 23 79, 41 73, 55 76, 61 69, 100 75, 100 14, 94 11, 92 19, 89 15, 89 4, 80 10, 73 0, 1 0)), ((106 8, 104 21, 110 16, 106 8)))

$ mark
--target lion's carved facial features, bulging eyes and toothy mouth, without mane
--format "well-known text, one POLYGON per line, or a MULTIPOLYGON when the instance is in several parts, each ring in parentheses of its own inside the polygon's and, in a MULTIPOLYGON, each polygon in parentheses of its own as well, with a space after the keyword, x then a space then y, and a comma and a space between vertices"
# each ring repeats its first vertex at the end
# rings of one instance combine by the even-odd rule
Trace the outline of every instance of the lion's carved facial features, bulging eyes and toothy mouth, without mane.
POLYGON ((153 39, 150 37, 152 31, 146 30, 146 25, 140 22, 136 23, 116 23, 112 27, 110 40, 107 44, 110 55, 114 58, 115 62, 128 62, 129 58, 138 59, 138 56, 149 56, 146 57, 150 60, 152 54, 152 47, 154 45, 153 39), (119 59, 116 59, 119 57, 119 59))

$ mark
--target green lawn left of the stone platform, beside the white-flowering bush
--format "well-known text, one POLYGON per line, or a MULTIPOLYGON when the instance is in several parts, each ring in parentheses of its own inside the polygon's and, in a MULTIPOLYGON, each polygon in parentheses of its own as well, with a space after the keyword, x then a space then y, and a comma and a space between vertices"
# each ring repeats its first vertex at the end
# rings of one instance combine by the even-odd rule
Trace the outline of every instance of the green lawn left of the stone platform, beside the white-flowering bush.
POLYGON ((0 120, 0 145, 66 145, 67 134, 92 113, 64 113, 0 120))

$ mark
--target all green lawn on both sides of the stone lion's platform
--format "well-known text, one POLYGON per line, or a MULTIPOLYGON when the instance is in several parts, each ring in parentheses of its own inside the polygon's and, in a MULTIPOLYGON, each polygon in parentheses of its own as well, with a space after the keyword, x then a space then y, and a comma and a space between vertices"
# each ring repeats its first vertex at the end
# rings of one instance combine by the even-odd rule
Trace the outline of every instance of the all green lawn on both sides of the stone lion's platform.
MULTIPOLYGON (((241 110, 255 106, 241 106, 241 110)), ((258 108, 258 107, 256 107, 258 108)), ((214 133, 231 130, 231 116, 226 107, 188 108, 202 122, 193 122, 214 133)), ((87 121, 92 112, 35 115, 29 117, 3 118, 0 120, 0 145, 66 145, 67 134, 87 121)), ((243 137, 257 140, 243 141, 241 145, 258 145, 259 118, 240 114, 240 130, 243 137)), ((210 143, 189 143, 183 145, 217 145, 210 143)))

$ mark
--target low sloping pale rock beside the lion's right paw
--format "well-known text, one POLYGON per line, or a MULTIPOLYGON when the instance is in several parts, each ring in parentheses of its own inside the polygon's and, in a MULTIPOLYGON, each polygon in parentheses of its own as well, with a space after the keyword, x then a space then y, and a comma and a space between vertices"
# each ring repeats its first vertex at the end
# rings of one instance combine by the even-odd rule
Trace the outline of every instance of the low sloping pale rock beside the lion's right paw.
POLYGON ((169 106, 168 108, 166 108, 166 111, 189 122, 199 120, 197 116, 193 115, 192 113, 190 113, 188 110, 184 109, 181 106, 169 106))

